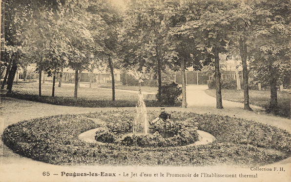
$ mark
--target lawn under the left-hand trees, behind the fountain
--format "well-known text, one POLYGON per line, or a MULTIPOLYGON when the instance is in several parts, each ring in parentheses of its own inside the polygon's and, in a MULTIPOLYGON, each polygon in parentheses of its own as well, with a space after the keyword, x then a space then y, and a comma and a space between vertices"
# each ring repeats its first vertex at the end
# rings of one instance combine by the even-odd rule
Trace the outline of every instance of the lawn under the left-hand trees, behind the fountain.
MULTIPOLYGON (((134 107, 138 101, 137 93, 123 91, 115 92, 115 101, 112 101, 112 91, 101 88, 78 88, 78 99, 74 98, 74 85, 62 84, 55 87, 55 97, 51 97, 52 83, 42 84, 42 97, 39 97, 39 84, 37 82, 23 82, 13 85, 13 92, 8 97, 39 101, 44 103, 79 106, 79 107, 134 107)), ((146 102, 147 106, 158 106, 156 102, 146 102)))

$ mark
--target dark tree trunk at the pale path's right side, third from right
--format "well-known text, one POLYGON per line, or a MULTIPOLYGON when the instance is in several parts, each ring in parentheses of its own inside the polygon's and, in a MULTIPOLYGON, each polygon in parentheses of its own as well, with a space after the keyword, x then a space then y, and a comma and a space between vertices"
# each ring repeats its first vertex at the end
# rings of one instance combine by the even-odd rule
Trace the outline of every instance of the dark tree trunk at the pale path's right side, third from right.
POLYGON ((215 61, 215 90, 216 90, 216 108, 223 109, 222 96, 221 96, 221 82, 219 70, 219 52, 214 48, 214 61, 215 61))

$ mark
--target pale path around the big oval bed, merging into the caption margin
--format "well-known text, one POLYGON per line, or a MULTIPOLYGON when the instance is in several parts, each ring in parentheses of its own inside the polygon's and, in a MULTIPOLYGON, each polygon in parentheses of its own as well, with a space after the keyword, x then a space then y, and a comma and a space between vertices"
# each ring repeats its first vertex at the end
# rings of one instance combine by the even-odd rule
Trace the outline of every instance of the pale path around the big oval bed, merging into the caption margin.
MULTIPOLYGON (((166 108, 167 112, 170 111, 192 111, 199 114, 211 113, 235 116, 239 118, 251 119, 259 122, 268 123, 283 129, 291 131, 290 120, 272 116, 261 112, 262 108, 252 106, 253 112, 243 110, 243 104, 223 101, 224 109, 216 109, 215 98, 212 98, 205 94, 205 86, 187 86, 187 109, 181 109, 176 107, 166 108)), ((46 103, 39 103, 33 101, 24 101, 12 98, 2 98, 0 105, 0 131, 1 135, 3 129, 8 125, 19 122, 21 120, 27 120, 42 116, 50 116, 57 114, 79 114, 96 111, 106 110, 122 110, 128 108, 80 108, 80 107, 68 107, 51 105, 46 103)), ((148 108, 148 110, 159 110, 159 108, 148 108)), ((259 167, 259 166, 254 166, 259 167)), ((134 167, 134 166, 59 166, 52 165, 44 162, 33 161, 31 159, 21 157, 18 154, 13 153, 8 149, 3 142, 0 142, 0 182, 81 182, 81 181, 193 181, 192 178, 167 178, 167 177, 151 177, 151 178, 130 178, 131 172, 140 174, 141 172, 147 173, 171 173, 171 174, 199 174, 201 173, 217 173, 217 174, 237 174, 236 179, 231 178, 199 178, 200 182, 290 182, 291 177, 291 161, 290 158, 273 163, 266 166, 260 166, 260 168, 278 169, 278 171, 253 171, 250 168, 241 168, 238 166, 227 166, 224 164, 217 164, 217 166, 211 167, 134 167), (280 171, 280 167, 284 171, 280 171), (62 172, 113 172, 117 173, 116 178, 105 177, 66 177, 62 176, 62 172), (43 172, 49 172, 50 176, 43 176, 43 172), (129 177, 124 177, 123 172, 128 173, 129 177), (55 175, 54 175, 55 174, 55 175), (121 176, 119 176, 121 174, 121 176), (239 178, 238 175, 258 174, 259 178, 239 178)), ((192 176, 193 177, 193 176, 192 176)), ((198 179, 196 179, 197 181, 198 179)))

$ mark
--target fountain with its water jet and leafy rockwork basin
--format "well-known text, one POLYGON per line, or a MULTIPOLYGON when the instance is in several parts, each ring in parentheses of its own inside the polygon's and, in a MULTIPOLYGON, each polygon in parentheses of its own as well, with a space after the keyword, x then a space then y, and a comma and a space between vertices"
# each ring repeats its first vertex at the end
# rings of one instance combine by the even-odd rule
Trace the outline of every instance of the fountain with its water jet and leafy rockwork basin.
MULTIPOLYGON (((119 116, 115 119, 113 117, 103 127, 93 130, 96 132, 95 140, 97 142, 138 147, 170 147, 185 146, 199 141, 197 123, 192 121, 180 121, 178 118, 172 118, 171 121, 156 122, 148 127, 147 114, 149 114, 149 118, 153 118, 157 116, 157 113, 153 115, 153 112, 147 113, 146 111, 141 90, 144 75, 136 69, 130 70, 129 74, 139 82, 138 101, 135 111, 123 111, 122 113, 123 118, 131 118, 131 120, 120 120, 119 116), (133 117, 134 114, 135 117, 133 117)), ((110 116, 111 114, 108 115, 110 116)), ((107 120, 108 115, 105 118, 103 118, 103 115, 99 117, 107 120)))

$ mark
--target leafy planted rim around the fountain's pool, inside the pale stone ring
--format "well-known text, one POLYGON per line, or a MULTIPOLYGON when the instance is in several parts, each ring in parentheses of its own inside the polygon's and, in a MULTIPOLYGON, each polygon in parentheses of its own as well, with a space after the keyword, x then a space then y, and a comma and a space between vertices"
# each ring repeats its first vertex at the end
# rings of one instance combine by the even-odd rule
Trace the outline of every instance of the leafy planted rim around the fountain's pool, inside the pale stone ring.
POLYGON ((198 122, 177 119, 156 122, 147 135, 133 134, 133 121, 113 119, 97 130, 95 140, 140 147, 184 146, 198 141, 198 122))

